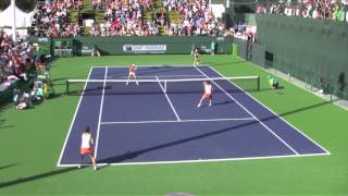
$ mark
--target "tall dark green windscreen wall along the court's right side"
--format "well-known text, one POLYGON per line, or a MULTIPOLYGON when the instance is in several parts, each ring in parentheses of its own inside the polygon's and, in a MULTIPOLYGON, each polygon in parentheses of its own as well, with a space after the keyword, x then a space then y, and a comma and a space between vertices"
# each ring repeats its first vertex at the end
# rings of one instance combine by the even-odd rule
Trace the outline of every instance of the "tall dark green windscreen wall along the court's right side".
POLYGON ((258 14, 257 25, 270 66, 348 97, 348 24, 258 14))

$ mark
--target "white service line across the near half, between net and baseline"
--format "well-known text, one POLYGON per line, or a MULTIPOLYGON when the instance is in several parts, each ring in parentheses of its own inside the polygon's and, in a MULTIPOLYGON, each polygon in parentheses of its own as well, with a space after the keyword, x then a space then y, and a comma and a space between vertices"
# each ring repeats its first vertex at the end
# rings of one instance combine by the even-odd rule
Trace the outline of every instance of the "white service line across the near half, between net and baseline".
POLYGON ((184 123, 184 122, 219 122, 219 121, 254 121, 253 118, 240 119, 188 119, 181 121, 125 121, 125 122, 100 122, 101 125, 108 124, 148 124, 148 123, 184 123))

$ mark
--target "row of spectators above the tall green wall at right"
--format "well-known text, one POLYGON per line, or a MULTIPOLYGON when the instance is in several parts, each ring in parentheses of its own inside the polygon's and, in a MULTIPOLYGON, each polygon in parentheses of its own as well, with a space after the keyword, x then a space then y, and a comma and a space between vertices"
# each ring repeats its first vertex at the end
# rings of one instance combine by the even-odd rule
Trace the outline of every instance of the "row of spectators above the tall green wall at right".
POLYGON ((277 3, 259 4, 256 12, 348 22, 348 1, 303 0, 298 3, 288 3, 279 0, 277 3))

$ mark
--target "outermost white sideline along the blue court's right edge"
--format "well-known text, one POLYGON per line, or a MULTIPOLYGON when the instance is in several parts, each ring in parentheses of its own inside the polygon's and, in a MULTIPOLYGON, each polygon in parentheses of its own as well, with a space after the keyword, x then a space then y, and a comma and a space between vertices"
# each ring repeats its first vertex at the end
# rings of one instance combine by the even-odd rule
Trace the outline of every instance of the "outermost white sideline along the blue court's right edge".
MULTIPOLYGON (((212 71, 214 71, 216 74, 221 75, 222 77, 225 77, 223 74, 221 74, 217 70, 215 70, 212 66, 209 66, 212 71)), ((227 79, 231 84, 233 84, 234 86, 236 86, 237 88, 239 88, 240 90, 243 90, 238 85, 234 84, 232 81, 227 79)), ((315 140, 313 140, 311 137, 309 137, 308 135, 306 135, 303 132, 301 132, 299 128, 297 128, 296 126, 294 126, 293 124, 290 124, 289 122, 287 122, 284 118, 282 118, 281 115, 278 115, 277 113, 275 113, 273 110, 271 110, 269 107, 266 107, 265 105, 263 105, 262 102, 260 102, 258 99, 256 99, 254 97, 252 97, 248 91, 243 90, 244 93, 246 93, 246 95, 248 95, 250 98, 252 98, 254 101, 257 101, 259 105, 263 106, 265 109, 268 109, 269 111, 271 111, 274 115, 276 115, 277 118, 282 119, 286 124, 288 124, 289 126, 291 126, 294 130, 296 130, 298 133, 300 133, 302 136, 304 136, 307 139, 309 139, 310 142, 312 142, 313 144, 315 144, 316 146, 319 146, 320 148, 322 148, 324 151, 326 151, 326 154, 331 155, 331 152, 325 149, 324 147, 322 147, 319 143, 316 143, 315 140)))

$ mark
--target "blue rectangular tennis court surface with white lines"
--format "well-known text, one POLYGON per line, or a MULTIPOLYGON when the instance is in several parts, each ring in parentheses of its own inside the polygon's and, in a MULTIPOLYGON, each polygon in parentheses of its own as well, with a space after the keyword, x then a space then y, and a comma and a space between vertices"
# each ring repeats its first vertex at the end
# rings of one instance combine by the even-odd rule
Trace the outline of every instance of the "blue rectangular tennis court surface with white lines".
MULTIPOLYGON (((78 163, 82 131, 91 127, 98 164, 226 161, 330 155, 234 83, 212 82, 213 106, 197 103, 202 84, 109 82, 127 68, 96 66, 78 102, 58 166, 78 163), (197 88, 197 90, 194 90, 197 88), (171 91, 171 89, 173 89, 171 91)), ((223 77, 211 66, 138 66, 139 79, 223 77)), ((85 158, 85 164, 89 159, 85 158)))

